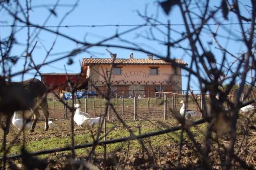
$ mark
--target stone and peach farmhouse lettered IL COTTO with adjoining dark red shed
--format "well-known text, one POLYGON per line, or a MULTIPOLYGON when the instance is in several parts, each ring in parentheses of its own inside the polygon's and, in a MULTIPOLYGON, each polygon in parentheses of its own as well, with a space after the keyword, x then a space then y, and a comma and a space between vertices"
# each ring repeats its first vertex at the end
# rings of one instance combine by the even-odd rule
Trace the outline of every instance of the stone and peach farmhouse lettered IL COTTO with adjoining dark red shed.
POLYGON ((42 74, 41 79, 54 89, 56 93, 68 91, 68 81, 78 83, 78 89, 96 91, 96 88, 106 93, 106 83, 111 73, 111 89, 114 95, 146 95, 154 97, 157 91, 182 90, 181 68, 177 65, 188 65, 181 59, 171 59, 166 62, 162 59, 154 59, 148 54, 146 59, 135 59, 133 53, 128 59, 118 59, 116 54, 110 58, 83 58, 82 73, 76 74, 42 74), (68 81, 67 81, 68 80, 68 81), (77 81, 78 80, 78 81, 77 81), (95 88, 96 87, 96 88, 95 88))

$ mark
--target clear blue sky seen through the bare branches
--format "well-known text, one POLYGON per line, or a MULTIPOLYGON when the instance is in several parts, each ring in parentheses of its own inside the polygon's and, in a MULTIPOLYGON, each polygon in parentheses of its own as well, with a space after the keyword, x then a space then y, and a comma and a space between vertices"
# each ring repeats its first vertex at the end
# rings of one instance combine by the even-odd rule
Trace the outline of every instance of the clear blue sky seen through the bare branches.
MULTIPOLYGON (((24 1, 25 2, 25 1, 24 1)), ((22 2, 22 3, 24 3, 22 2)), ((209 8, 214 9, 214 5, 219 6, 221 1, 213 0, 209 5, 209 8)), ((243 3, 247 3, 248 5, 250 1, 245 0, 243 3)), ((55 10, 56 16, 51 15, 49 9, 52 9, 55 5, 55 1, 37 1, 32 0, 32 10, 30 11, 30 22, 35 25, 43 25, 45 26, 66 26, 61 28, 50 27, 48 29, 56 31, 61 34, 64 34, 70 38, 76 39, 81 42, 88 43, 97 43, 104 39, 110 38, 117 33, 120 34, 122 32, 126 32, 132 28, 135 28, 136 24, 144 24, 145 20, 138 15, 138 13, 142 15, 150 16, 154 19, 159 20, 163 24, 166 24, 168 20, 170 20, 170 24, 172 29, 182 32, 184 30, 184 23, 181 18, 180 11, 178 8, 172 8, 172 11, 169 15, 166 15, 162 8, 159 6, 158 2, 155 0, 80 0, 78 6, 75 10, 72 10, 72 4, 75 2, 70 2, 67 0, 61 0, 58 7, 55 10), (72 10, 72 11, 71 11, 72 10), (64 16, 70 12, 65 18, 64 16), (50 16, 50 17, 49 17, 50 16), (50 18, 46 21, 46 18, 50 18), (62 20, 64 18, 64 20, 62 20), (90 27, 90 26, 95 27, 90 27), (127 26, 107 26, 107 25, 127 25, 127 26)), ((25 7, 25 4, 22 4, 25 7)), ((10 6, 9 9, 14 10, 13 6, 10 6)), ((242 11, 242 13, 246 14, 246 11, 242 11)), ((5 24, 1 25, 11 25, 13 24, 13 19, 8 15, 8 12, 2 10, 0 11, 1 20, 5 22, 5 24)), ((24 16, 18 14, 21 18, 24 16)), ((212 20, 212 24, 216 22, 221 22, 223 20, 222 14, 216 14, 216 20, 212 20)), ((229 20, 227 23, 237 23, 236 17, 229 15, 229 20)), ((17 22, 16 25, 22 25, 17 22)), ((212 31, 216 29, 216 25, 209 26, 212 31)), ((220 42, 227 49, 232 50, 234 53, 241 53, 244 50, 244 45, 236 38, 239 38, 239 28, 238 25, 227 25, 220 29, 220 42), (226 40, 225 36, 230 34, 230 30, 232 30, 232 35, 230 37, 234 38, 234 40, 226 40), (221 37, 223 36, 223 40, 221 37)), ((166 41, 164 35, 161 33, 167 33, 166 27, 158 26, 158 30, 153 30, 154 36, 156 39, 161 41, 166 41)), ((11 28, 10 27, 0 27, 0 36, 1 39, 10 35, 11 28)), ((28 39, 28 29, 27 28, 16 28, 16 41, 17 45, 14 45, 11 55, 12 56, 22 56, 24 55, 24 51, 26 50, 26 41, 28 39)), ((74 43, 67 38, 62 36, 56 36, 47 31, 36 30, 36 34, 33 32, 34 28, 30 29, 30 50, 36 44, 36 47, 32 53, 32 57, 36 64, 40 64, 44 61, 47 51, 49 51, 52 47, 50 55, 46 58, 45 62, 54 61, 59 57, 63 57, 70 53, 70 51, 77 49, 78 47, 82 47, 81 44, 74 43), (55 42, 56 41, 56 42, 55 42), (37 43, 36 43, 37 42, 37 43), (52 46, 53 42, 55 42, 54 46, 52 46)), ((166 46, 164 46, 161 42, 152 41, 144 38, 144 36, 150 35, 148 27, 142 27, 136 29, 132 32, 128 32, 122 36, 121 39, 114 38, 105 42, 104 44, 110 45, 121 45, 124 47, 136 47, 139 45, 146 51, 151 51, 152 53, 156 53, 158 55, 164 56, 167 53, 166 46), (126 41, 134 43, 127 43, 126 41)), ((180 38, 180 34, 177 34, 175 31, 171 32, 172 41, 178 40, 180 38)), ((201 35, 201 37, 205 42, 205 48, 214 52, 214 54, 218 57, 219 61, 222 59, 222 52, 216 49, 216 45, 208 46, 208 42, 214 43, 213 38, 209 32, 205 32, 201 35)), ((180 45, 183 47, 189 47, 188 42, 181 42, 180 45)), ((68 65, 68 59, 62 59, 60 61, 56 61, 54 63, 50 63, 49 65, 45 65, 40 68, 41 73, 64 73, 65 67, 68 73, 78 73, 80 72, 80 65, 82 58, 86 57, 99 57, 99 58, 108 58, 110 54, 106 51, 106 48, 112 53, 116 53, 118 58, 128 58, 130 53, 134 53, 134 58, 146 58, 147 53, 142 53, 139 51, 131 50, 131 49, 121 49, 114 47, 90 47, 83 53, 72 57, 74 63, 72 65, 68 65)), ((186 63, 189 64, 188 67, 191 67, 190 64, 191 58, 184 51, 178 48, 171 49, 171 58, 182 59, 186 63)), ((232 62, 234 58, 228 57, 228 62, 232 62)), ((226 63, 228 65, 228 62, 226 63)), ((18 62, 12 66, 12 73, 17 73, 24 69, 25 59, 19 59, 18 62)), ((26 66, 27 67, 27 66, 26 66)), ((29 73, 24 75, 24 79, 28 79, 34 77, 36 74, 35 71, 30 71, 29 73)), ((186 75, 186 71, 182 71, 182 89, 186 89, 188 86, 188 78, 186 75)), ((37 77, 40 79, 40 77, 37 77)), ((12 78, 12 81, 21 81, 21 76, 15 76, 12 78)), ((192 78, 190 82, 190 89, 198 90, 198 81, 196 77, 192 78)))

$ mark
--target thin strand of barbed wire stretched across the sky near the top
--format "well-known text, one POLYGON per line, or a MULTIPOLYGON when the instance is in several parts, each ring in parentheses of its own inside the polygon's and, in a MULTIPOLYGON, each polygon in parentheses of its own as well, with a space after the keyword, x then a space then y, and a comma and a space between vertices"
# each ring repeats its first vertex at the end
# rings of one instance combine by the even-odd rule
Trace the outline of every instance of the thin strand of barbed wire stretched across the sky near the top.
MULTIPOLYGON (((214 24, 204 24, 207 26, 211 25, 219 25, 220 23, 214 23, 214 24)), ((240 25, 240 24, 251 24, 251 23, 227 23, 227 24, 221 24, 221 25, 240 25)), ((109 26, 115 26, 115 27, 132 27, 132 26, 184 26, 185 24, 107 24, 107 25, 74 25, 74 26, 31 26, 30 27, 40 27, 40 28, 69 28, 69 27, 109 27, 109 26)), ((188 24, 189 26, 200 26, 201 24, 188 24)), ((28 27, 28 25, 20 26, 20 25, 0 25, 0 27, 28 27)))

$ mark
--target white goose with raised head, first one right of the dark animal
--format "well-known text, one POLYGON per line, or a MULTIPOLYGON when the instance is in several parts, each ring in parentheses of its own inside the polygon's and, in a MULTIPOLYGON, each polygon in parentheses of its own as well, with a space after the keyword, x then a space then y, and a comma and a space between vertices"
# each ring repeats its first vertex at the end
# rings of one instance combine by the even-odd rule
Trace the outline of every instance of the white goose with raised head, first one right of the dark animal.
POLYGON ((76 109, 76 113, 74 115, 74 121, 80 128, 93 127, 97 122, 98 118, 90 118, 88 113, 81 112, 81 108, 79 104, 75 104, 74 108, 76 109))

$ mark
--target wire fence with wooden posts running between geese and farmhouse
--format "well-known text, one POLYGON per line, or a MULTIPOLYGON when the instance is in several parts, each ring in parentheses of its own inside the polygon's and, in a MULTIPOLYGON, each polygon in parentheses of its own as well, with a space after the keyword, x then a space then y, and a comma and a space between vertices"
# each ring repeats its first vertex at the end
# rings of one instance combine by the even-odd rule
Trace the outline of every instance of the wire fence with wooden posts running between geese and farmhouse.
MULTIPOLYGON (((200 95, 185 95, 179 93, 159 92, 156 96, 145 99, 110 99, 118 116, 124 121, 146 121, 146 120, 164 120, 172 119, 173 111, 179 111, 182 107, 181 100, 187 98, 187 109, 200 111, 201 96, 200 95), (164 100, 166 95, 166 101, 164 100)), ((209 98, 205 95, 206 100, 209 98)), ((229 100, 234 101, 234 95, 229 95, 229 100)), ((207 101, 206 101, 207 102, 207 101)), ((66 101, 69 106, 72 106, 72 101, 66 101)), ((106 110, 106 99, 98 97, 76 99, 74 103, 80 103, 81 111, 89 113, 92 117, 103 116, 106 110)), ((50 118, 52 119, 70 119, 71 112, 67 110, 61 101, 57 101, 54 97, 48 97, 48 107, 50 118)), ((109 120, 117 120, 116 113, 108 109, 109 120)))

